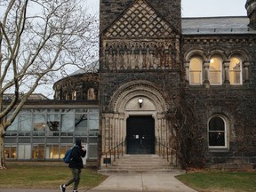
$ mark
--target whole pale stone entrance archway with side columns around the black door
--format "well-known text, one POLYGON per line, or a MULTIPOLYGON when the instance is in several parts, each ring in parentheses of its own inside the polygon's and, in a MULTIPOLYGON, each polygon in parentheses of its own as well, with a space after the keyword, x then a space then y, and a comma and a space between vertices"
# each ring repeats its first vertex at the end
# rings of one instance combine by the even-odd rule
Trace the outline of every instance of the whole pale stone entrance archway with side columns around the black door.
POLYGON ((163 142, 170 137, 169 124, 165 119, 168 104, 156 84, 140 80, 124 84, 113 94, 109 109, 113 113, 102 114, 103 154, 126 139, 126 122, 130 116, 151 116, 155 122, 156 139, 163 142), (139 99, 143 100, 141 106, 139 99))

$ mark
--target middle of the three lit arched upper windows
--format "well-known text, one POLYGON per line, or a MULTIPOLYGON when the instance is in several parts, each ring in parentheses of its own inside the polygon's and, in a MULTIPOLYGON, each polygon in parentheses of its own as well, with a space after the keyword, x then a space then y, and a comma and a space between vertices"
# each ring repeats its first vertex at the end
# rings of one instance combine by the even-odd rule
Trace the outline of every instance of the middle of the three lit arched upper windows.
POLYGON ((210 60, 209 81, 210 84, 222 84, 222 64, 218 57, 210 60))

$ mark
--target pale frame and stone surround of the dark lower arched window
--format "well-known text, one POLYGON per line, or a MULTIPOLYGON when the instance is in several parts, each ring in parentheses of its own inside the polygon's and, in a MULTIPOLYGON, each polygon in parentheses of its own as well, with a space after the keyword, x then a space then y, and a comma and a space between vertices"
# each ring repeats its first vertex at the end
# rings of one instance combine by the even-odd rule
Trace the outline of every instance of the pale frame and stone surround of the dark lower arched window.
POLYGON ((228 120, 226 117, 216 114, 209 118, 207 122, 207 140, 208 140, 209 149, 228 149, 228 120), (210 146, 210 132, 218 132, 218 131, 210 131, 210 121, 214 117, 219 117, 224 123, 224 143, 225 143, 224 146, 210 146))

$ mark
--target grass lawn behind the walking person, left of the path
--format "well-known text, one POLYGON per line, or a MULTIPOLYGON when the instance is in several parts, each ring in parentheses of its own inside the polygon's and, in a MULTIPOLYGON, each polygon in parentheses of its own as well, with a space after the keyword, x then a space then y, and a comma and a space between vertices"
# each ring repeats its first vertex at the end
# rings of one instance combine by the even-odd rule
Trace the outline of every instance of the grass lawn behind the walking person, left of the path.
MULTIPOLYGON (((12 163, 8 169, 0 170, 0 188, 59 188, 72 178, 68 164, 12 163)), ((79 188, 94 188, 107 177, 96 170, 84 169, 79 188)))

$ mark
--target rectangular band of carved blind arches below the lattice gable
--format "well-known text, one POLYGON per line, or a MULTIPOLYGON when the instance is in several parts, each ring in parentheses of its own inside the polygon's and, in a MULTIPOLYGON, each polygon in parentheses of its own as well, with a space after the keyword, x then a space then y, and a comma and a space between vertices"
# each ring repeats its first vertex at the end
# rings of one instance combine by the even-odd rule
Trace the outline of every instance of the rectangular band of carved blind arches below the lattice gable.
MULTIPOLYGON (((173 42, 173 41, 172 41, 173 42)), ((105 69, 179 68, 180 44, 165 41, 109 41, 105 44, 105 69)))

